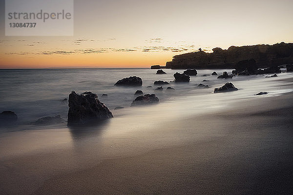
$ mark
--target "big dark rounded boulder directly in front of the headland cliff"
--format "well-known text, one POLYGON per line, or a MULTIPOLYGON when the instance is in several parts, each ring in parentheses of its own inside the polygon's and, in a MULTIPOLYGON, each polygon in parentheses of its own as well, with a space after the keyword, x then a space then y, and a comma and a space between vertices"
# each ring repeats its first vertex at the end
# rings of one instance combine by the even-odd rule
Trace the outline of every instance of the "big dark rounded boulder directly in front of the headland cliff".
POLYGON ((235 75, 250 75, 256 73, 258 66, 255 59, 245 59, 238 61, 235 65, 235 75))

